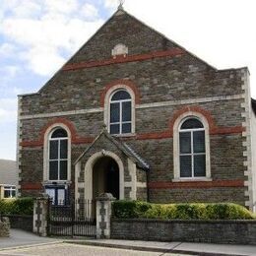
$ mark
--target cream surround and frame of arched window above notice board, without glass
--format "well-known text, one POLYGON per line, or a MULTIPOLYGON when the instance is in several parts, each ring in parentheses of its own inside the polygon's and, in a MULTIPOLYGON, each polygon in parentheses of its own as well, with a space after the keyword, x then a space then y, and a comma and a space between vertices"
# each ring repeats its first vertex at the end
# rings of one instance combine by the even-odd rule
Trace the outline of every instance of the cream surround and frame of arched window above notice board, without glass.
MULTIPOLYGON (((54 138, 55 139, 55 138, 54 138)), ((59 138, 56 138, 59 139, 59 138)), ((71 132, 69 128, 63 123, 55 123, 47 128, 44 133, 44 144, 43 144, 43 184, 57 184, 70 183, 71 182, 71 132), (67 162, 67 180, 50 180, 49 179, 49 141, 52 133, 57 129, 64 129, 67 132, 68 137, 68 162, 67 162)))

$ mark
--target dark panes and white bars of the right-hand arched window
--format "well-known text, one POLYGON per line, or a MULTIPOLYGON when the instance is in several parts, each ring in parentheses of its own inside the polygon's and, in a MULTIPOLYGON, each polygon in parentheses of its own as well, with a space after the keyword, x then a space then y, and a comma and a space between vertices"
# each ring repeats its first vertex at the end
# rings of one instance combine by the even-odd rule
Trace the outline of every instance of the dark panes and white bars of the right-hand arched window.
POLYGON ((206 177, 206 139, 203 123, 185 119, 179 128, 180 178, 206 177))

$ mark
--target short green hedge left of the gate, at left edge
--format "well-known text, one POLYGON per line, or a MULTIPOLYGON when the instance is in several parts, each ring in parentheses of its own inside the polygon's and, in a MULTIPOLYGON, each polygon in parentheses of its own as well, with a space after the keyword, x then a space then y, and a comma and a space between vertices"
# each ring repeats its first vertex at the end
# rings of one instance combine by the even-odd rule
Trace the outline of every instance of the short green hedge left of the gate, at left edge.
POLYGON ((0 215, 32 215, 31 197, 0 200, 0 215))

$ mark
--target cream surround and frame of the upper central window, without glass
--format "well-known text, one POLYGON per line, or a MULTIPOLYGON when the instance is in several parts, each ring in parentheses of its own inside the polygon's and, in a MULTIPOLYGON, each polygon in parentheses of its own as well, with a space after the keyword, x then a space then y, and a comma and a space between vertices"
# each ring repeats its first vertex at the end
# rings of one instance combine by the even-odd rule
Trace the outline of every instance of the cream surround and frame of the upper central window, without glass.
MULTIPOLYGON (((110 101, 111 97, 117 92, 117 91, 126 91, 131 98, 128 100, 131 100, 131 133, 119 133, 119 134, 113 134, 114 136, 133 136, 135 134, 135 95, 133 90, 126 86, 126 85, 116 85, 111 87, 105 94, 104 97, 104 123, 107 127, 107 131, 110 133, 110 101)), ((123 100, 123 99, 121 99, 123 100)), ((127 99, 124 99, 127 100, 127 99)), ((116 100, 115 102, 117 102, 116 100)))

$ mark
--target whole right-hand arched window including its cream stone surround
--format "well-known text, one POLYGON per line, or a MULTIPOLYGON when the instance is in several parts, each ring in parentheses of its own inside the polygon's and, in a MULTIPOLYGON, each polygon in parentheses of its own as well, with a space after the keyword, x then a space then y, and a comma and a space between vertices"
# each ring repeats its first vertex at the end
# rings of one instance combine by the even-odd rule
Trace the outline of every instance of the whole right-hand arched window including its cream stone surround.
POLYGON ((181 114, 173 125, 174 179, 211 180, 207 119, 198 112, 181 114))

